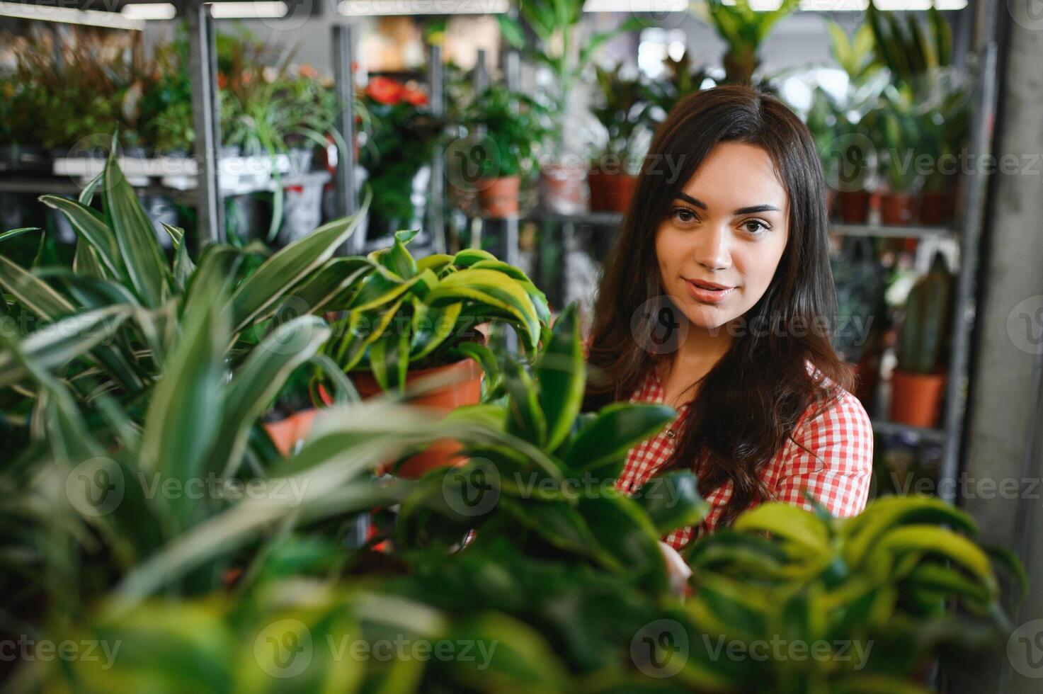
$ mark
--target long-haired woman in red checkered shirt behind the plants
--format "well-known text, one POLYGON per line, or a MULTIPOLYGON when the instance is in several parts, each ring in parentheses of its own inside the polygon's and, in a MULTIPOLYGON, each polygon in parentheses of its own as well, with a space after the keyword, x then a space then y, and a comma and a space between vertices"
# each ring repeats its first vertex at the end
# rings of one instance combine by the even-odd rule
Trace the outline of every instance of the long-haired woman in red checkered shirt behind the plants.
POLYGON ((835 294, 821 163, 780 101, 721 87, 656 133, 598 297, 588 409, 665 403, 678 420, 616 481, 694 470, 710 503, 680 548, 767 500, 866 505, 873 432, 829 332, 835 294))

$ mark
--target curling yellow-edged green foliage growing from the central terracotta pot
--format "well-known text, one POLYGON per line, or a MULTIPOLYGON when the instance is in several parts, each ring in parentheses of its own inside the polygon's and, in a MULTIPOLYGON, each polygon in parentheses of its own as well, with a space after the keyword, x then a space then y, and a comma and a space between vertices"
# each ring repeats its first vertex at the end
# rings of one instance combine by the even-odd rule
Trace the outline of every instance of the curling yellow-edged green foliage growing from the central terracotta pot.
POLYGON ((475 248, 416 260, 406 247, 416 234, 396 232, 389 248, 337 261, 349 279, 329 305, 342 315, 326 354, 344 372, 370 369, 385 390, 403 388, 411 368, 467 356, 490 365, 491 353, 477 343, 480 324, 511 326, 534 355, 550 311, 525 272, 475 248))

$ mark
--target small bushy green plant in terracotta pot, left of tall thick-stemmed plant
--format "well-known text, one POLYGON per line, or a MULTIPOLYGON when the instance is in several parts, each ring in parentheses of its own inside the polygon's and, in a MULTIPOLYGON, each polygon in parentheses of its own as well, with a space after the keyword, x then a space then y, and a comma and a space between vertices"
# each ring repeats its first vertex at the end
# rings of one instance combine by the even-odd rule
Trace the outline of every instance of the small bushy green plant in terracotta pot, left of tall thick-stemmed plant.
MULTIPOLYGON (((482 214, 509 217, 518 213, 518 192, 536 162, 539 143, 549 133, 547 110, 531 97, 492 85, 464 115, 468 129, 492 145, 481 147, 476 183, 482 214)), ((475 162, 468 162, 474 164, 475 162)))

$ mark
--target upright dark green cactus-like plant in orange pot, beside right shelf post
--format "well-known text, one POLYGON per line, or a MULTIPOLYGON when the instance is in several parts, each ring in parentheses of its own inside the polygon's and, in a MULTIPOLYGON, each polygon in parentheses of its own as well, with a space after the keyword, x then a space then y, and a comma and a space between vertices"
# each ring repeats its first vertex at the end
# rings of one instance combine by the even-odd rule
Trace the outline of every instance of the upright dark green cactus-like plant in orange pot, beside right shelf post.
POLYGON ((905 301, 898 366, 891 384, 891 418, 895 422, 915 427, 938 424, 946 382, 951 294, 952 274, 944 256, 938 254, 905 301))

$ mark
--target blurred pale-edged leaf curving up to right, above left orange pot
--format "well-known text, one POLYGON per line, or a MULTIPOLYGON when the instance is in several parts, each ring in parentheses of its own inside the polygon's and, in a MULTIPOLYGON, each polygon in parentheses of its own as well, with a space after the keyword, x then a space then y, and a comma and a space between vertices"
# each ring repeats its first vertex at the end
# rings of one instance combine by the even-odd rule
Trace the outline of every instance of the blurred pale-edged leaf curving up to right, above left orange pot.
POLYGON ((313 315, 284 322, 250 351, 228 384, 221 428, 209 472, 227 479, 237 474, 250 428, 278 394, 297 366, 314 357, 330 337, 325 321, 313 315))

